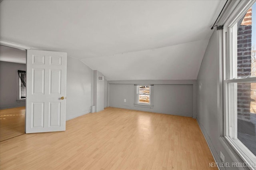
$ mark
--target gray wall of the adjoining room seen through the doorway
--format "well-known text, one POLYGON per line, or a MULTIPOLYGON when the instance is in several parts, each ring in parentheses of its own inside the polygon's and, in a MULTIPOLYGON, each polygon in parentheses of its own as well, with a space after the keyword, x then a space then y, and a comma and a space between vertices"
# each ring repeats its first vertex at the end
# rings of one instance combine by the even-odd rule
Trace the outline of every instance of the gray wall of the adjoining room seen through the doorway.
POLYGON ((25 100, 16 101, 17 70, 26 70, 26 64, 0 61, 0 109, 25 106, 25 100))

